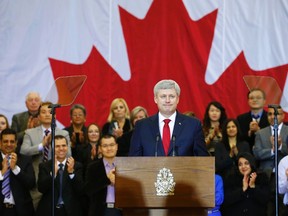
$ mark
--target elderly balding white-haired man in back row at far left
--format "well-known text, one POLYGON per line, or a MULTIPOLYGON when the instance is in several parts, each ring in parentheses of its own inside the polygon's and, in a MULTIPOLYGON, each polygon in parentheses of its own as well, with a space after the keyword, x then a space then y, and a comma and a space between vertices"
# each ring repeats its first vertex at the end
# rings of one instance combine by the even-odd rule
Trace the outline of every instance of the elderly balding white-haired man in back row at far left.
POLYGON ((39 125, 38 109, 41 104, 41 97, 38 92, 29 92, 26 96, 25 104, 27 111, 17 113, 12 116, 11 128, 17 132, 19 145, 22 144, 26 129, 34 128, 39 125))

